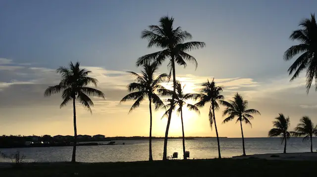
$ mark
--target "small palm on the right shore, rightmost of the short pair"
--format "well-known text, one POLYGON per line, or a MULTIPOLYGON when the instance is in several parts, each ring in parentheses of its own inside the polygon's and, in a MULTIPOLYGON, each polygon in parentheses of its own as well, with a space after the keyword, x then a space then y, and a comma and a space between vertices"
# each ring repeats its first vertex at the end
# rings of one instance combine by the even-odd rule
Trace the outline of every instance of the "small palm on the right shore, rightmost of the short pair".
POLYGON ((314 123, 308 116, 304 116, 300 123, 297 124, 295 132, 292 133, 294 136, 305 136, 304 140, 311 140, 311 152, 313 152, 313 135, 317 135, 317 126, 314 126, 314 123))

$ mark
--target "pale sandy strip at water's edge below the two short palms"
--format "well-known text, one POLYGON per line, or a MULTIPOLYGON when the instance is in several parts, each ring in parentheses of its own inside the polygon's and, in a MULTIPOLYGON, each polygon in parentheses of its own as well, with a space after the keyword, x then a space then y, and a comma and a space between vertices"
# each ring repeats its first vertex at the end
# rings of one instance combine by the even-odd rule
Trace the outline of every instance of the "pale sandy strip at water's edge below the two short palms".
POLYGON ((317 160, 317 152, 287 153, 287 154, 254 154, 235 156, 231 159, 266 159, 266 160, 317 160))

